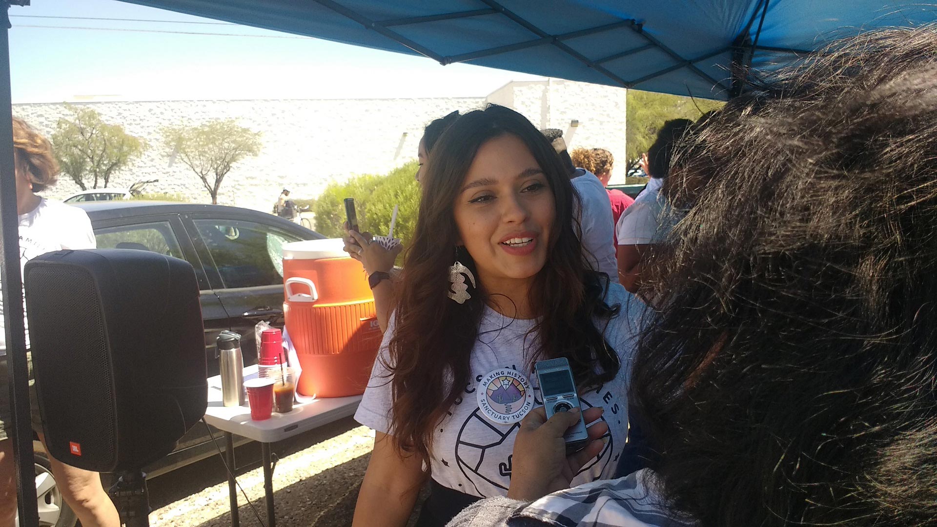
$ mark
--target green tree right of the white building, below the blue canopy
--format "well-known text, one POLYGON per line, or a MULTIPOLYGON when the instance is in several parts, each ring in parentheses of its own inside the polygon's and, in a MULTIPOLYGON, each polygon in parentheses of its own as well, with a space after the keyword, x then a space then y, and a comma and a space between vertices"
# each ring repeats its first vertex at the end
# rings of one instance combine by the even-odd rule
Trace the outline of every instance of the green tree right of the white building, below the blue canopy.
POLYGON ((703 113, 722 107, 718 100, 628 90, 625 155, 629 166, 654 143, 658 130, 671 119, 695 121, 703 113))

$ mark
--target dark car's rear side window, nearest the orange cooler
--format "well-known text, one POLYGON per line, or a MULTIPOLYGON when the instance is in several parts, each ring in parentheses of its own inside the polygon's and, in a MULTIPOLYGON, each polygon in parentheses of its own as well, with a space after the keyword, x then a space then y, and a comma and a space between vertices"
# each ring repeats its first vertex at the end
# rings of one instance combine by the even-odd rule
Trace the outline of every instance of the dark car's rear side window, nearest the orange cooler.
POLYGON ((300 236, 253 221, 196 219, 226 288, 283 283, 283 244, 300 236))

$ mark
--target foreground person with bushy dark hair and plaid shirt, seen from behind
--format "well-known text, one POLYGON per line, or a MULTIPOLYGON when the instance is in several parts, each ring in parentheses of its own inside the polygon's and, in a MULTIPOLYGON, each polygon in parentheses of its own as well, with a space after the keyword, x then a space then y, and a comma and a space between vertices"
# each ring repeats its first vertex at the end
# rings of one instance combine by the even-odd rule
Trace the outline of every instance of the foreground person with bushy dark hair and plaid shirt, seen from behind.
POLYGON ((937 525, 937 26, 753 89, 673 163, 631 392, 659 458, 561 490, 571 416, 528 417, 507 498, 452 527, 937 525))

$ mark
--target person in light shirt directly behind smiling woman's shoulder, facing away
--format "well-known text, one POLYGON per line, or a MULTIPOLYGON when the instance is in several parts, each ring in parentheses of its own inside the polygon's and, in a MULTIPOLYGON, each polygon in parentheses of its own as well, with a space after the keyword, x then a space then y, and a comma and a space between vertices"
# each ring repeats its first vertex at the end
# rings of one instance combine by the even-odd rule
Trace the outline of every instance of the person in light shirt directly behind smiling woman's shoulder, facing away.
POLYGON ((618 283, 618 266, 615 259, 615 221, 612 219, 612 203, 608 201, 605 186, 594 173, 573 165, 573 159, 567 151, 566 141, 563 140, 562 130, 546 128, 541 130, 541 133, 553 144, 579 196, 576 219, 578 219, 580 239, 587 261, 596 271, 605 273, 608 279, 618 283))

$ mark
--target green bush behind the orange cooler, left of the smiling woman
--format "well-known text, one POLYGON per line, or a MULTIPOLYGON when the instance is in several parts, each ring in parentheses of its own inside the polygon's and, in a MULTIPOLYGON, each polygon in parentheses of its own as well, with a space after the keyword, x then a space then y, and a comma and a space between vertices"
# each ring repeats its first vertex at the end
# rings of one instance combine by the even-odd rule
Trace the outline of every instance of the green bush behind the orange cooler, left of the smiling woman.
POLYGON ((420 207, 420 185, 414 178, 416 161, 395 168, 384 175, 364 174, 346 183, 333 183, 322 191, 312 206, 316 213, 316 231, 330 238, 344 234, 345 198, 354 198, 358 213, 358 227, 376 235, 386 235, 391 225, 394 204, 399 205, 394 236, 409 246, 416 228, 420 207))

